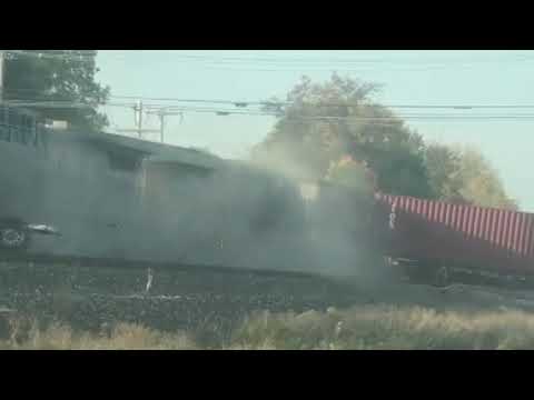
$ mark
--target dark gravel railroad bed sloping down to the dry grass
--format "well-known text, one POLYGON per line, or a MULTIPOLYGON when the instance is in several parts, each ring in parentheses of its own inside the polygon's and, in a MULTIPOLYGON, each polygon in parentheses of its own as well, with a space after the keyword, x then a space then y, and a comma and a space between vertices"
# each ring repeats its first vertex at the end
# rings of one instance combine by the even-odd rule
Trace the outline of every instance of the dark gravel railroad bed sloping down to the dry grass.
POLYGON ((126 321, 229 334, 253 311, 352 303, 349 286, 307 272, 41 254, 0 261, 0 306, 86 329, 126 321))

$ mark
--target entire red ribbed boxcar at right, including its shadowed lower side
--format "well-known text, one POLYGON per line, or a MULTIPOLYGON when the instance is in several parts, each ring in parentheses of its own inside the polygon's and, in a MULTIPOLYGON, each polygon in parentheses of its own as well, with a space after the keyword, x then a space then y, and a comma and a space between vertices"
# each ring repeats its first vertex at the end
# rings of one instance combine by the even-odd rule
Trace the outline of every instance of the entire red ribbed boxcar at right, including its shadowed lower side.
POLYGON ((534 214, 378 194, 386 253, 426 267, 534 273, 534 214), (385 217, 387 216, 387 217, 385 217))

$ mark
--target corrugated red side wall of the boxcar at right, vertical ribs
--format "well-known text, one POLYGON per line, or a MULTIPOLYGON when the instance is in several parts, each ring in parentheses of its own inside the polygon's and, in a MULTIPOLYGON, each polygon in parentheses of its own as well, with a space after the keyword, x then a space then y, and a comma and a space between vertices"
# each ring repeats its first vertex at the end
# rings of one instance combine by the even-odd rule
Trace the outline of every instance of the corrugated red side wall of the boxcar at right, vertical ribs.
POLYGON ((406 236, 394 236, 397 249, 416 249, 413 241, 424 241, 429 247, 424 256, 433 251, 441 258, 534 270, 532 213, 388 194, 378 201, 395 211, 395 229, 406 236))

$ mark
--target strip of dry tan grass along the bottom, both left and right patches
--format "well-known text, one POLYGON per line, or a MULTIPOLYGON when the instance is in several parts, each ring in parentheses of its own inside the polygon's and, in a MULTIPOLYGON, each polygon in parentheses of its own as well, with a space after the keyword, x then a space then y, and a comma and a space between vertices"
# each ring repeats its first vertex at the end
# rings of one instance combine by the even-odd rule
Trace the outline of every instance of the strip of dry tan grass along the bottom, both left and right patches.
MULTIPOLYGON (((21 329, 19 329, 21 331, 21 329)), ((73 332, 31 323, 26 336, 13 333, 1 349, 176 349, 200 347, 186 333, 162 333, 136 324, 118 324, 107 333, 73 332), (22 339, 21 339, 22 338, 22 339)), ((227 350, 343 349, 534 349, 534 314, 515 310, 436 312, 429 308, 365 306, 301 314, 261 312, 249 318, 234 338, 212 348, 227 350)))

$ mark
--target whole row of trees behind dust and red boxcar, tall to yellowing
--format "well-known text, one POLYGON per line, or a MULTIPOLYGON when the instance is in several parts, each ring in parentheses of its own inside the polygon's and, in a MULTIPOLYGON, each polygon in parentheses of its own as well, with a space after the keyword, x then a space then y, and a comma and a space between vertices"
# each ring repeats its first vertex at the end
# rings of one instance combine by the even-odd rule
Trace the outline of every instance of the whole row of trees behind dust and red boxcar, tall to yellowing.
MULTIPOLYGON (((373 101, 378 86, 336 73, 322 83, 304 77, 286 100, 271 99, 266 111, 277 121, 253 149, 257 162, 298 179, 362 176, 359 161, 374 172, 375 188, 486 207, 516 208, 484 157, 474 149, 427 146, 390 109, 373 101), (359 168, 359 169, 358 169, 359 168)), ((353 177, 355 184, 362 179, 353 177)))

